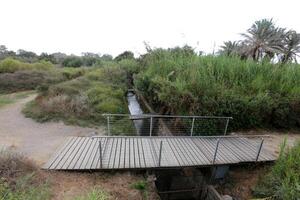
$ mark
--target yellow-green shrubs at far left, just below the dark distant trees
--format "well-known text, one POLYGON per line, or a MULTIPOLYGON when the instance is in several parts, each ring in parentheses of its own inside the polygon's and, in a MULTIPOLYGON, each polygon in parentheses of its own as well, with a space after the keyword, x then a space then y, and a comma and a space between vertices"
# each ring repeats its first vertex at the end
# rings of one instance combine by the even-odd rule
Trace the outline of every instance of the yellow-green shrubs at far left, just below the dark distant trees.
POLYGON ((13 73, 20 70, 50 70, 52 68, 53 65, 46 61, 25 63, 13 58, 5 58, 0 61, 0 73, 13 73))

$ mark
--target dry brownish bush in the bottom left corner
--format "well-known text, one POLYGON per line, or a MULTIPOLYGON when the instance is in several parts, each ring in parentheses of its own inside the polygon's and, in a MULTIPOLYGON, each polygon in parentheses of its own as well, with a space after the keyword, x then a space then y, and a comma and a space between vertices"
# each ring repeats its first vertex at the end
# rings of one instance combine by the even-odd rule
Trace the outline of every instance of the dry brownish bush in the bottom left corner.
POLYGON ((0 169, 0 199, 50 199, 47 181, 23 156, 1 151, 0 169))

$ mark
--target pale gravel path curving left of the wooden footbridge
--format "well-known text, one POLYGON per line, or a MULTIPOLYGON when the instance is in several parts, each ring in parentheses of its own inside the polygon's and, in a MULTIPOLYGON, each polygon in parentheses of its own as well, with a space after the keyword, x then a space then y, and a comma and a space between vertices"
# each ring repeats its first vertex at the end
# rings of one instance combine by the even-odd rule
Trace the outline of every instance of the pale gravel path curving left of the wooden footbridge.
POLYGON ((103 129, 82 128, 65 125, 63 122, 37 123, 21 113, 24 105, 36 95, 20 99, 0 108, 0 150, 11 148, 44 164, 68 136, 87 136, 103 129))

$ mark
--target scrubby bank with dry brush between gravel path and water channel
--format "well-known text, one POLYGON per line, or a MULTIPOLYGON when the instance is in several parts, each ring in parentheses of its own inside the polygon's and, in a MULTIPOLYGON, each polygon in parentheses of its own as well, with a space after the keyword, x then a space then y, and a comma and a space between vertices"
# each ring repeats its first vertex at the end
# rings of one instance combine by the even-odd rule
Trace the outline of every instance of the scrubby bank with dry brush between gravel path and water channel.
POLYGON ((39 122, 63 120, 81 126, 99 125, 102 113, 127 113, 127 75, 119 66, 93 69, 84 76, 51 85, 24 109, 39 122))

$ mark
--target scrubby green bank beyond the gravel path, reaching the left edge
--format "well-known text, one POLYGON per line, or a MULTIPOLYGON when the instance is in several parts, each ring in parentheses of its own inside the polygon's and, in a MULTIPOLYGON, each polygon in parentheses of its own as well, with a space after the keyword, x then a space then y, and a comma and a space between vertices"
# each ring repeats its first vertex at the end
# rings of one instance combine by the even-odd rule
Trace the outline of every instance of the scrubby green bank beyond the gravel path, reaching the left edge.
POLYGON ((88 69, 59 68, 49 62, 0 61, 0 94, 43 89, 82 76, 88 69))

